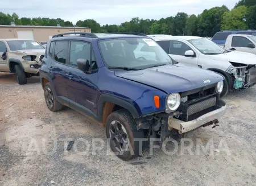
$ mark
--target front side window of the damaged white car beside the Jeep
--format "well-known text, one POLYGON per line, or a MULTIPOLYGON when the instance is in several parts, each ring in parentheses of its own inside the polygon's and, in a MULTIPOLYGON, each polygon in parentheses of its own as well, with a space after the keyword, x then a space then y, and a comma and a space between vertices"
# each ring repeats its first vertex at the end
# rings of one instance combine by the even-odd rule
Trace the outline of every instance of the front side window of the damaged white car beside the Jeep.
POLYGON ((187 44, 179 41, 170 41, 170 54, 184 56, 185 51, 192 50, 187 44))

